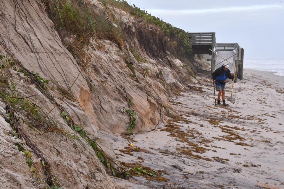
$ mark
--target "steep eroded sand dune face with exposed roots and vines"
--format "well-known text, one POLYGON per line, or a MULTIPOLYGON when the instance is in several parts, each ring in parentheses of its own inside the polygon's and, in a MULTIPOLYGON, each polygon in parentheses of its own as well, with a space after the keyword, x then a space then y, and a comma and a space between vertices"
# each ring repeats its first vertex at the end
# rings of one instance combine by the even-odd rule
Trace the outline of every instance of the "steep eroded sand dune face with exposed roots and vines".
MULTIPOLYGON (((149 50, 147 54, 136 35, 137 28, 143 29, 140 34, 147 32, 146 21, 137 27, 138 20, 125 11, 98 0, 80 1, 80 6, 91 7, 91 12, 109 19, 107 22, 111 22, 107 14, 112 19, 117 17, 121 27, 132 35, 127 36, 128 41, 117 41, 119 44, 98 36, 82 42, 83 38, 52 22, 46 2, 1 1, 0 180, 5 185, 0 188, 49 188, 53 184, 63 188, 120 188, 110 179, 112 170, 100 161, 86 136, 115 159, 112 144, 100 136, 99 130, 127 132, 130 115, 126 110, 130 108, 137 123, 133 133, 156 126, 165 112, 162 106, 170 107, 168 97, 191 82, 188 71, 193 68, 166 49, 163 56, 169 56, 167 62, 153 57, 154 50, 152 55, 149 50), (79 43, 83 46, 80 52, 70 50, 79 43), (77 53, 87 55, 79 58, 77 53), (171 63, 175 68, 166 68, 171 63), (11 122, 12 117, 16 122, 11 122), (45 122, 47 118, 52 121, 45 122), (10 127, 4 127, 5 122, 10 127), (25 148, 18 150, 15 143, 21 140, 25 148), (24 151, 33 155, 28 157, 24 151)), ((68 1, 64 6, 72 9, 69 3, 75 2, 68 1)), ((117 27, 111 24, 115 25, 113 29, 117 27)), ((147 40, 145 43, 151 47, 147 40)))

